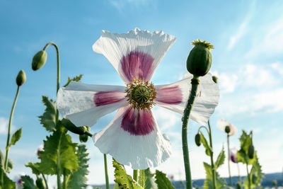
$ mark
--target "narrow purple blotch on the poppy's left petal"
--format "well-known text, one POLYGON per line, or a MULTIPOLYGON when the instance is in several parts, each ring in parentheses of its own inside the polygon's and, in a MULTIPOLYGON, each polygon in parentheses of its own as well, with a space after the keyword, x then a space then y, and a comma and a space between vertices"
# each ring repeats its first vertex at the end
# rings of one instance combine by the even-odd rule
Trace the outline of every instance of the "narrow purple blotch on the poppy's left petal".
POLYGON ((96 106, 108 105, 122 101, 124 98, 125 94, 120 91, 101 91, 94 94, 93 102, 96 106))

